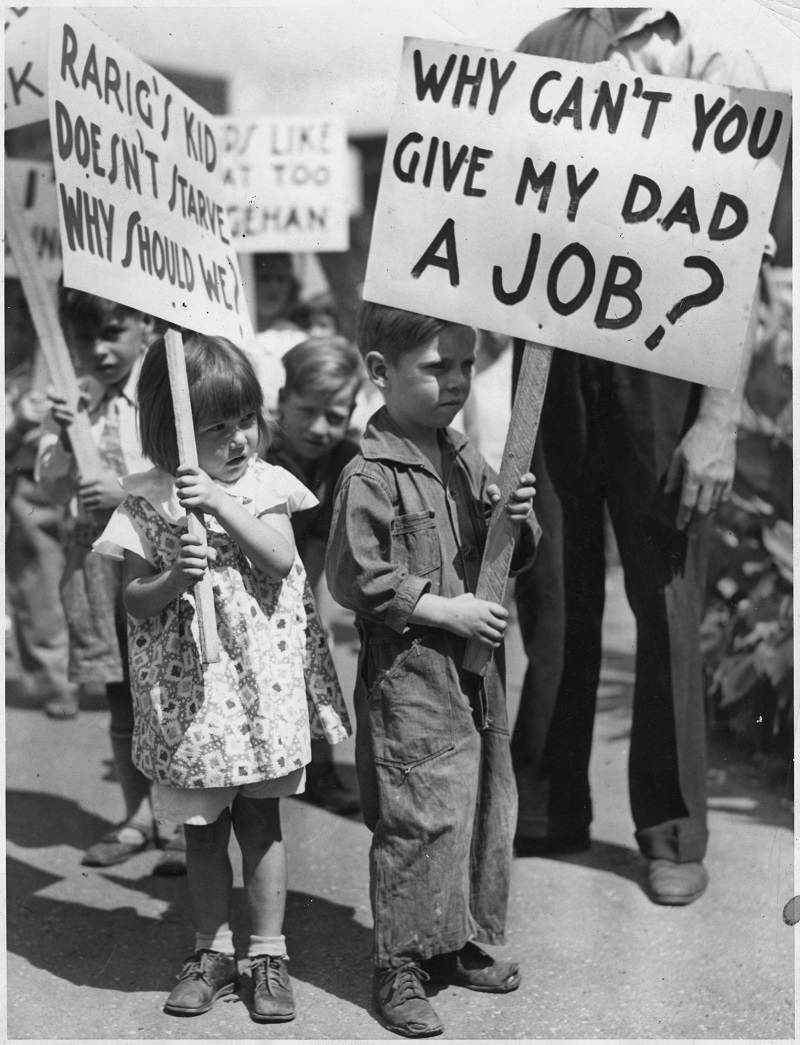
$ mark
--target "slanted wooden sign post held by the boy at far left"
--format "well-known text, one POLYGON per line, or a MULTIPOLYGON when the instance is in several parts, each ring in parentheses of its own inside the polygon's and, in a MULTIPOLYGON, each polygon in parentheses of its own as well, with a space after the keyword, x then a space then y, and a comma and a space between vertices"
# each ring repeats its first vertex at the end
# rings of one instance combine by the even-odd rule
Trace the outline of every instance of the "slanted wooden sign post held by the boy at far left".
POLYGON ((100 480, 103 478, 105 469, 92 438, 89 414, 80 405, 77 377, 64 331, 58 322, 53 298, 42 273, 36 247, 30 231, 25 225, 20 205, 9 194, 7 185, 4 189, 4 200, 5 231, 14 260, 17 262, 17 271, 28 302, 30 317, 39 336, 42 355, 47 363, 51 382, 65 397, 67 405, 75 415, 69 426, 69 438, 78 474, 85 482, 100 480))

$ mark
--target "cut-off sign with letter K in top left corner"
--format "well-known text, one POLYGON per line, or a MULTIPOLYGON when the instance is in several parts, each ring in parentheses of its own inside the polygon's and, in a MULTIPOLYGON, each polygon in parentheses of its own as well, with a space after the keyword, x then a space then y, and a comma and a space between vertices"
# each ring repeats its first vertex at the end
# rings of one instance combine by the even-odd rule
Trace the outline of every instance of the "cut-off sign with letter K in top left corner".
POLYGON ((47 119, 47 7, 5 8, 5 130, 47 119))

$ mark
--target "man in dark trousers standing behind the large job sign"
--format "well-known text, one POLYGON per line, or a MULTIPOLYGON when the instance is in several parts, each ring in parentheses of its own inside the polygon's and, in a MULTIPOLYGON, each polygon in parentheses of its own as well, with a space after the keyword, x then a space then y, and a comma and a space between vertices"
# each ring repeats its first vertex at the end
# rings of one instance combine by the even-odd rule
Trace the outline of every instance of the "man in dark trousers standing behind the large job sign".
MULTIPOLYGON (((746 51, 712 40, 670 10, 587 7, 545 22, 519 50, 767 87, 746 51)), ((631 807, 659 904, 691 903, 708 880, 700 614, 708 514, 733 482, 753 338, 751 320, 733 393, 556 351, 534 454, 546 540, 517 586, 530 668, 513 742, 516 851, 590 845, 607 505, 637 622, 631 807)))

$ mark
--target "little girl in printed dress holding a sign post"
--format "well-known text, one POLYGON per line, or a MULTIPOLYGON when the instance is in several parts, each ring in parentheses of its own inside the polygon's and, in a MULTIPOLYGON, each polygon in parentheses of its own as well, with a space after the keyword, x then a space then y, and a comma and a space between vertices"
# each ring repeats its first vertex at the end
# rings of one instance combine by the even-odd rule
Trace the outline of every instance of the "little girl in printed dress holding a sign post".
POLYGON ((198 334, 185 353, 198 467, 179 467, 160 340, 138 390, 142 448, 156 467, 121 480, 126 500, 95 544, 123 560, 134 761, 152 781, 157 818, 186 826, 195 952, 165 1011, 194 1016, 236 990, 233 828, 251 921, 253 1017, 290 1020, 279 798, 304 789, 311 726, 331 743, 350 732, 291 531, 291 513, 316 498, 258 457, 268 431, 243 353, 198 334), (191 509, 205 513, 207 540, 187 533, 191 509), (201 660, 193 593, 206 570, 220 647, 219 663, 209 665, 201 660))

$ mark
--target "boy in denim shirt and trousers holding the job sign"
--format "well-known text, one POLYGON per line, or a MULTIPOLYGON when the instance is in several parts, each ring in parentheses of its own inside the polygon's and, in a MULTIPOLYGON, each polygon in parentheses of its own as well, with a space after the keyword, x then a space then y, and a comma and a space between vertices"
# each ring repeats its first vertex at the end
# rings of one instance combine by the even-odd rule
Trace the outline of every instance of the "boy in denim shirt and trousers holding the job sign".
MULTIPOLYGON (((356 769, 373 832, 373 1001, 385 1026, 440 1034, 423 982, 505 993, 503 940, 516 820, 502 635, 508 611, 474 597, 500 497, 469 440, 464 405, 475 333, 364 303, 358 346, 383 394, 339 481, 326 559, 333 598, 356 614, 356 769), (494 649, 485 677, 463 668, 469 638, 494 649)), ((533 561, 533 475, 505 509, 512 567, 533 561)))

